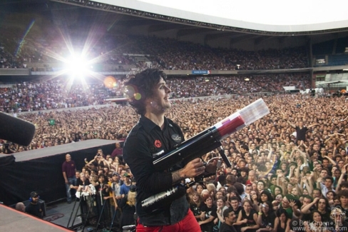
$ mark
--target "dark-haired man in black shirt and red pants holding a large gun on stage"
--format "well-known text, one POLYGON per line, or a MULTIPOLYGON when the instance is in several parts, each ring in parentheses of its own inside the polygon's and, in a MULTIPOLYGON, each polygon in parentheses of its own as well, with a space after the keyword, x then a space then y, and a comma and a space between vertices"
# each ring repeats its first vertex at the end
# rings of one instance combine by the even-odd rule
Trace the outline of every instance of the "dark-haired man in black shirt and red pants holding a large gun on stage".
POLYGON ((205 171, 216 171, 216 161, 205 167, 200 158, 173 166, 170 170, 155 170, 153 158, 184 141, 180 127, 165 118, 166 111, 171 107, 170 89, 165 80, 163 71, 146 69, 126 83, 130 104, 140 114, 138 123, 123 146, 123 158, 131 168, 137 187, 137 231, 200 231, 185 196, 163 204, 152 212, 141 206, 141 201, 167 191, 185 178, 198 176, 205 171))

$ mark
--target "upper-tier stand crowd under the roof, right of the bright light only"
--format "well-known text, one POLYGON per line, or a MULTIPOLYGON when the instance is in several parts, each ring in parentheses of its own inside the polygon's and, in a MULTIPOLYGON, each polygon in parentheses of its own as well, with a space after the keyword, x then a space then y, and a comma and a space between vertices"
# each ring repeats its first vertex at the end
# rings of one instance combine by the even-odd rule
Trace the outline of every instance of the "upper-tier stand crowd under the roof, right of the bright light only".
POLYGON ((137 37, 136 39, 145 54, 153 55, 153 61, 160 65, 160 69, 263 70, 295 69, 309 66, 305 48, 242 51, 215 49, 175 39, 155 37, 137 37))

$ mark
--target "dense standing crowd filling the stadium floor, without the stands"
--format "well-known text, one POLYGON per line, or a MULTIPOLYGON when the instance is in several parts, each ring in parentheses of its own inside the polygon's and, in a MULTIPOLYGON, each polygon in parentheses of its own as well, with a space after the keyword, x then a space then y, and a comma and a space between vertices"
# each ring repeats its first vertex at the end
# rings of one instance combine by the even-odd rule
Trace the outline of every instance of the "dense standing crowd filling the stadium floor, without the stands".
MULTIPOLYGON (((168 117, 178 122, 187 139, 255 99, 239 96, 173 100, 168 117)), ((309 228, 347 226, 343 216, 348 208, 346 99, 302 94, 263 99, 270 114, 222 141, 232 168, 223 165, 216 178, 206 178, 188 190, 188 201, 202 231, 217 231, 219 225, 230 221, 237 231, 245 231, 246 226, 254 231, 271 228, 286 231, 293 228, 293 221, 309 221, 309 228), (333 213, 337 213, 341 224, 332 219, 333 213)), ((36 124, 36 137, 31 146, 11 145, 9 152, 91 138, 122 141, 138 121, 129 106, 19 116, 36 124)), ((219 156, 218 152, 212 151, 203 158, 214 156, 219 156)), ((105 180, 111 183, 113 173, 130 178, 130 182, 131 171, 120 156, 106 154, 104 159, 90 168, 78 169, 85 173, 94 169, 99 175, 106 175, 105 180)), ((95 176, 88 178, 92 181, 95 176)))

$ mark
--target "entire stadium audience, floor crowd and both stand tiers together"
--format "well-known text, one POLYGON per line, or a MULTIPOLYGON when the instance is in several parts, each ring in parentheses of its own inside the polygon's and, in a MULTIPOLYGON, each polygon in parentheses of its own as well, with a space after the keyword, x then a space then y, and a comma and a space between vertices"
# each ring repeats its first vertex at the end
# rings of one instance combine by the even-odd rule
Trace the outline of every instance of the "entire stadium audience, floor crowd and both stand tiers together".
MULTIPOLYGON (((42 41, 30 36, 15 54, 16 62, 12 62, 9 58, 13 55, 0 46, 0 69, 30 68, 31 62, 42 62, 47 71, 52 71, 50 64, 56 62, 53 57, 68 56, 63 40, 42 41)), ((72 36, 73 41, 81 40, 78 32, 72 36)), ((17 37, 13 40, 19 41, 20 37, 17 37)), ((76 47, 82 48, 83 44, 76 47)), ((309 66, 302 48, 268 51, 213 49, 145 36, 105 37, 89 55, 104 56, 106 59, 101 59, 101 62, 108 64, 145 65, 143 61, 136 61, 134 56, 123 54, 148 54, 153 67, 171 70, 266 70, 309 66)), ((309 81, 303 80, 309 78, 304 76, 255 75, 248 76, 250 81, 245 81, 245 76, 168 79, 173 97, 168 118, 179 124, 185 139, 188 139, 257 99, 245 93, 280 92, 282 86, 308 89, 309 81), (231 99, 190 99, 225 94, 237 96, 231 99), (188 101, 179 101, 179 98, 188 101)), ((66 89, 63 82, 26 81, 11 88, 1 88, 1 111, 39 111, 18 114, 19 118, 36 125, 36 136, 31 145, 18 146, 1 141, 1 153, 93 138, 116 140, 115 153, 103 154, 98 150, 98 155, 92 161, 86 161, 86 166, 77 167, 81 171, 76 173, 76 177, 83 186, 91 183, 100 189, 105 184, 103 197, 115 206, 110 210, 122 208, 123 214, 127 208, 134 210, 135 189, 131 188, 134 180, 127 164, 123 163, 118 141, 126 138, 138 116, 129 106, 74 109, 105 104, 107 96, 121 95, 121 87, 122 82, 113 90, 106 89, 103 84, 88 86, 87 90, 83 86, 66 89), (45 111, 60 108, 71 110, 45 111)), ((188 188, 190 208, 202 231, 347 231, 346 99, 306 94, 275 94, 263 99, 270 114, 222 141, 232 167, 222 164, 216 176, 188 188)), ((215 156, 219 153, 211 151, 203 159, 208 161, 215 156)), ((79 192, 78 185, 71 188, 79 192)), ((88 187, 83 191, 91 189, 88 187)), ((120 220, 123 220, 122 216, 120 220)))

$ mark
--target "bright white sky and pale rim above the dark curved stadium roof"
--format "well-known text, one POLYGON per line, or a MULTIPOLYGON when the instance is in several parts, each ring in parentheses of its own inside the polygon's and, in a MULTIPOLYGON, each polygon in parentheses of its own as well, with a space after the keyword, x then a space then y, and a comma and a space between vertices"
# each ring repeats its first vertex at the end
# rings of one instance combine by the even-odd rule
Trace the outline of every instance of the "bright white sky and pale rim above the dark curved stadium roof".
POLYGON ((334 0, 95 0, 165 16, 261 31, 348 27, 348 1, 334 0))

